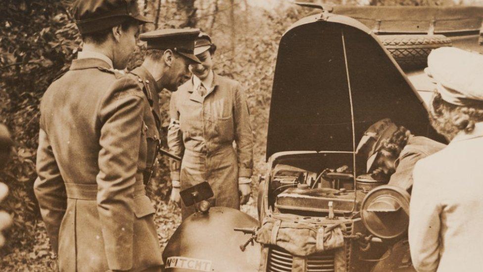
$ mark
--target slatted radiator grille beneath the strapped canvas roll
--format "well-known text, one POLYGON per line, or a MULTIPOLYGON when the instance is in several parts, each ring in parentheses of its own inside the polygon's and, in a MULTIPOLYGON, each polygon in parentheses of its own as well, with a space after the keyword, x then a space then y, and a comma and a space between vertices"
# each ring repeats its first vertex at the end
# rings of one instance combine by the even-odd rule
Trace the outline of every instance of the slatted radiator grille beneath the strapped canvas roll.
MULTIPOLYGON (((280 247, 271 247, 267 272, 291 272, 293 257, 280 247)), ((334 272, 334 252, 328 251, 307 257, 307 272, 334 272)))

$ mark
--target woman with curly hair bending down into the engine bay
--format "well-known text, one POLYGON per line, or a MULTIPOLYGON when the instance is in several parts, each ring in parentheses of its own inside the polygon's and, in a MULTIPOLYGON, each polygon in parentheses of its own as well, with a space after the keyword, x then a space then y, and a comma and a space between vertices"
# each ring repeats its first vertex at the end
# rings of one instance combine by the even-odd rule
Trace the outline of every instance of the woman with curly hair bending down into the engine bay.
POLYGON ((410 192, 414 165, 445 146, 427 137, 414 136, 405 127, 398 127, 386 118, 367 129, 357 153, 366 150, 368 173, 384 174, 389 177, 388 184, 410 192))

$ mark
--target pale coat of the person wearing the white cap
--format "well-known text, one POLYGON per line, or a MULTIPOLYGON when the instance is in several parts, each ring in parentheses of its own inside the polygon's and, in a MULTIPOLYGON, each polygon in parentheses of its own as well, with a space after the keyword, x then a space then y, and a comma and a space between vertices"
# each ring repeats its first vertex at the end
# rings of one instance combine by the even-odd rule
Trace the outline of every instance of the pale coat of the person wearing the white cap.
POLYGON ((414 168, 409 245, 420 272, 482 271, 483 122, 414 168))

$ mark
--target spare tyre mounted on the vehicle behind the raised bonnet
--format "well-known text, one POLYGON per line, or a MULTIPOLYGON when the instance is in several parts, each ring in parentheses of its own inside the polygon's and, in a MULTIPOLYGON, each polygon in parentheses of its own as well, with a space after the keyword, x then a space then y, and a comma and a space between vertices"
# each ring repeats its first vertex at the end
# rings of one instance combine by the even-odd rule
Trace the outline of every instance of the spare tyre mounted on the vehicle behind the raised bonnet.
POLYGON ((451 46, 444 35, 380 35, 378 38, 404 70, 427 66, 431 50, 451 46))

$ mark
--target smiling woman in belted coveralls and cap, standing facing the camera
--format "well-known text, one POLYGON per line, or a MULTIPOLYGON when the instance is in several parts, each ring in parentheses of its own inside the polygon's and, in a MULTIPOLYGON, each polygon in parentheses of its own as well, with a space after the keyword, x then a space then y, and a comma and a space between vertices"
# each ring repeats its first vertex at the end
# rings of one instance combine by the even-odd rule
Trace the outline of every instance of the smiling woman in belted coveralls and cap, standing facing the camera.
MULTIPOLYGON (((248 106, 239 82, 213 72, 216 46, 211 38, 201 33, 194 47, 201 64, 190 67, 192 79, 173 93, 170 102, 168 147, 182 157, 181 165, 170 165, 171 200, 179 203, 180 190, 208 181, 214 192, 212 206, 239 210, 250 197, 253 168, 248 106)), ((194 207, 181 208, 183 219, 194 213, 194 207)))

